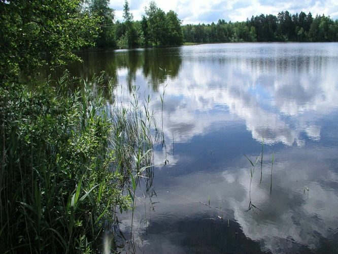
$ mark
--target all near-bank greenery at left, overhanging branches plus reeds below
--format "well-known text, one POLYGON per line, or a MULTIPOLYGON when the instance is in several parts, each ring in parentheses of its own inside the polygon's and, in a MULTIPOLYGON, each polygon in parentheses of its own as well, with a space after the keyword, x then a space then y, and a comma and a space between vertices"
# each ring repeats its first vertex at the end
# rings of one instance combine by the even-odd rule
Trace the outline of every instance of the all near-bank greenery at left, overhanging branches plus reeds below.
POLYGON ((81 9, 75 0, 0 1, 0 46, 7 49, 0 51, 1 253, 97 250, 116 210, 130 205, 122 195, 129 172, 151 174, 147 107, 145 116, 137 100, 132 108, 108 107, 102 78, 64 75, 33 88, 20 81, 43 65, 79 59, 74 50, 105 33, 108 2, 91 3, 81 9), (134 154, 142 160, 134 162, 134 154))

